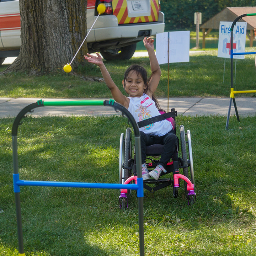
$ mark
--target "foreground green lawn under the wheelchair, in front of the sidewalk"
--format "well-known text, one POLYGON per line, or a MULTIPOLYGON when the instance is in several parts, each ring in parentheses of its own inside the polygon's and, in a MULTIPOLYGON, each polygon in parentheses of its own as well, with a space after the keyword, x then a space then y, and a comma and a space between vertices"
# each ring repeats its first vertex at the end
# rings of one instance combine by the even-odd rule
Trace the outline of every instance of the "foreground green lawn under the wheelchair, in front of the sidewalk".
MULTIPOLYGON (((1 256, 17 255, 18 247, 13 121, 0 119, 1 256)), ((197 201, 187 205, 183 182, 176 199, 171 187, 145 191, 145 255, 256 254, 256 117, 231 117, 230 130, 225 123, 222 116, 177 117, 191 131, 197 201)), ((126 127, 121 116, 27 117, 18 129, 20 179, 118 183, 126 127)), ((117 190, 21 187, 20 194, 26 255, 138 255, 135 192, 125 212, 117 190)))

